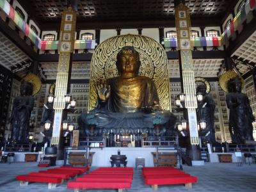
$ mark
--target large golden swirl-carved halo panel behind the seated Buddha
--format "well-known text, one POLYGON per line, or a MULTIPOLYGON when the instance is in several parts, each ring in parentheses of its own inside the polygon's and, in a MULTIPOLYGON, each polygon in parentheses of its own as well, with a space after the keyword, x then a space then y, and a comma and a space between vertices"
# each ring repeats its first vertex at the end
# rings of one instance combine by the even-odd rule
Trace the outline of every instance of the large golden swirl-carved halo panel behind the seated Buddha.
POLYGON ((95 49, 91 62, 90 91, 88 110, 95 108, 97 91, 95 84, 99 79, 109 79, 118 76, 116 54, 124 46, 133 46, 140 53, 140 76, 153 79, 161 108, 171 110, 170 87, 168 76, 168 60, 163 46, 142 35, 119 35, 108 38, 95 49))

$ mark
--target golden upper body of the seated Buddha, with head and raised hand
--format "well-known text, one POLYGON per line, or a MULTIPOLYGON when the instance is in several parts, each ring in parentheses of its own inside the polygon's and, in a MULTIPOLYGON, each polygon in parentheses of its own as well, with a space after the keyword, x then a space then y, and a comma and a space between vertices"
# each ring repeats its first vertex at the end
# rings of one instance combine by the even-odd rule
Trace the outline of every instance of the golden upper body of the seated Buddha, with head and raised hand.
POLYGON ((97 82, 99 104, 106 104, 111 112, 134 113, 145 106, 159 103, 156 86, 152 79, 138 76, 140 54, 126 46, 116 56, 120 76, 97 82))

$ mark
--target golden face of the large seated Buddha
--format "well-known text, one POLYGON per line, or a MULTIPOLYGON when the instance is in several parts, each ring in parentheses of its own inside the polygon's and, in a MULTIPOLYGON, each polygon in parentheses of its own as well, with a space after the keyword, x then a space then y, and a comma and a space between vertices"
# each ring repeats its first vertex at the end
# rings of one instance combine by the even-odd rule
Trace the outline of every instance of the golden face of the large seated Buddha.
POLYGON ((124 53, 120 57, 120 65, 122 68, 122 76, 135 76, 137 60, 136 56, 131 53, 124 53))

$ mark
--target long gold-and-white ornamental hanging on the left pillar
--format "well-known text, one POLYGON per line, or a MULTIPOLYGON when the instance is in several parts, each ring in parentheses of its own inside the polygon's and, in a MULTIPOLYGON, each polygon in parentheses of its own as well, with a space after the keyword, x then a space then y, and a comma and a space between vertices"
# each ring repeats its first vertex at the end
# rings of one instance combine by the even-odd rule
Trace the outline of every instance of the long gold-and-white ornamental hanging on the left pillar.
POLYGON ((76 32, 76 11, 68 7, 62 13, 60 27, 60 56, 57 68, 55 100, 53 108, 55 109, 54 124, 52 131, 52 145, 58 145, 61 132, 61 118, 63 109, 65 109, 65 95, 68 86, 68 68, 70 63, 70 54, 74 49, 74 36, 76 32))

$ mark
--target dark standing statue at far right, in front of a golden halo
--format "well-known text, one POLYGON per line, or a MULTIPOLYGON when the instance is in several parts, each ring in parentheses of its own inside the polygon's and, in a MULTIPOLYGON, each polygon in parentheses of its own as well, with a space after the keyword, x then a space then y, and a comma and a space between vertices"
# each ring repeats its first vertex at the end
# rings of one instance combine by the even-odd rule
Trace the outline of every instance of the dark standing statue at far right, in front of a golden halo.
POLYGON ((246 94, 241 93, 242 83, 239 77, 228 81, 228 94, 226 95, 229 111, 228 128, 233 143, 245 143, 253 140, 252 122, 255 120, 250 101, 246 94))

